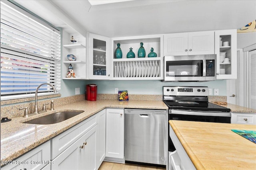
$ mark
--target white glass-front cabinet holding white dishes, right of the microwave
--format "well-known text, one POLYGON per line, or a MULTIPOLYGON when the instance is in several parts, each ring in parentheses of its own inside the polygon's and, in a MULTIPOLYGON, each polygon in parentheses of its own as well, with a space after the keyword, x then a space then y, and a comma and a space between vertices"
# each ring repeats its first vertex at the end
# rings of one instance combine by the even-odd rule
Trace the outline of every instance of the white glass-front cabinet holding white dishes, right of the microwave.
POLYGON ((215 31, 216 78, 236 79, 236 29, 215 31))

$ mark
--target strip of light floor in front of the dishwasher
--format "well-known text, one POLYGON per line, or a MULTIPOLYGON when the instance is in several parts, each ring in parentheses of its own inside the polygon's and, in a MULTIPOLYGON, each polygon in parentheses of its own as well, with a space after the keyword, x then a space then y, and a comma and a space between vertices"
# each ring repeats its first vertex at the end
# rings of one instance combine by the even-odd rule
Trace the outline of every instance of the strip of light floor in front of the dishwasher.
POLYGON ((103 161, 99 170, 165 170, 163 167, 146 166, 139 164, 119 164, 103 161))

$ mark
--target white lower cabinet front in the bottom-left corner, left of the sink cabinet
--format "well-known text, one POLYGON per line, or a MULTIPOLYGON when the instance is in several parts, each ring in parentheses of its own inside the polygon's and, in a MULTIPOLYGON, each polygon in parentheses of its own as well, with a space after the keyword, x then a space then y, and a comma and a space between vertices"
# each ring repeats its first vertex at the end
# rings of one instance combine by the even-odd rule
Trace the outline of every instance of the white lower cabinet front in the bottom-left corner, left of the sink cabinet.
POLYGON ((50 141, 15 159, 1 170, 40 170, 50 162, 50 141))

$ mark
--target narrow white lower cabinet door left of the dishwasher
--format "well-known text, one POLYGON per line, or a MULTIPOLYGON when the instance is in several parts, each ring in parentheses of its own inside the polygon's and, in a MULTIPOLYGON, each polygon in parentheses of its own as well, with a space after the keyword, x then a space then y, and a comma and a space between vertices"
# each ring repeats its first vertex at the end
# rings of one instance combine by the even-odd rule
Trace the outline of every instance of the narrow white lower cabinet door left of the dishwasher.
POLYGON ((106 157, 124 158, 124 109, 106 109, 106 157))

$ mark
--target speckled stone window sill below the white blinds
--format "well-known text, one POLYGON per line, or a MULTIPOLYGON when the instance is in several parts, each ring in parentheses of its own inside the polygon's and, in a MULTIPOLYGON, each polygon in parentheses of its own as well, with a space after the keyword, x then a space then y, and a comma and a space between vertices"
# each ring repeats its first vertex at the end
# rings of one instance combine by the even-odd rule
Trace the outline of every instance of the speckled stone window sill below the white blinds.
MULTIPOLYGON (((48 98, 57 98, 60 97, 61 94, 51 94, 51 95, 46 95, 46 96, 38 96, 38 100, 40 99, 48 99, 48 98)), ((22 102, 29 102, 29 101, 34 101, 35 97, 30 97, 30 98, 21 98, 21 99, 13 99, 13 100, 4 100, 1 101, 1 106, 2 105, 7 105, 7 104, 16 104, 16 103, 22 103, 22 102)))

